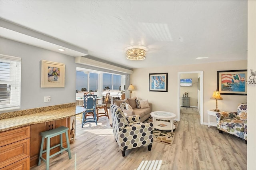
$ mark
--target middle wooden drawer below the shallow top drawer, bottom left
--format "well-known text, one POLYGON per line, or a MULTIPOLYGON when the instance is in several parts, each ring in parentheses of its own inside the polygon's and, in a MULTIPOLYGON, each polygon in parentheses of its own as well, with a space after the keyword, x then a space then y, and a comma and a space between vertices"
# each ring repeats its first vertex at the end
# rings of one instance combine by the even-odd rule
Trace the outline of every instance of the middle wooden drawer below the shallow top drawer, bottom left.
POLYGON ((30 138, 0 147, 0 168, 30 158, 30 138))

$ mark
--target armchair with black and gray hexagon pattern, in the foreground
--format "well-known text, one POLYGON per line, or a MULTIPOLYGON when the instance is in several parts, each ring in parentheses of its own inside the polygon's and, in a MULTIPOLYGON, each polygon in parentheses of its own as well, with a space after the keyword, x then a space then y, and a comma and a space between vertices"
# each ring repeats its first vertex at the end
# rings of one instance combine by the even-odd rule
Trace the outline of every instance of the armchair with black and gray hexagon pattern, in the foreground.
POLYGON ((117 105, 112 105, 110 109, 114 137, 122 151, 122 156, 125 156, 126 150, 140 146, 148 146, 150 151, 153 144, 153 123, 140 122, 139 115, 125 117, 122 109, 117 105))

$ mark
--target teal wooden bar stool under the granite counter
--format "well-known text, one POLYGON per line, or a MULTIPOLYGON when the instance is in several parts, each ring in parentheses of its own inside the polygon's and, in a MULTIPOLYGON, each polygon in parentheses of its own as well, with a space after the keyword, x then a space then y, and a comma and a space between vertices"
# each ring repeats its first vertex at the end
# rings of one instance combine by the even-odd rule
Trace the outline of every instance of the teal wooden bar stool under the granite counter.
POLYGON ((41 132, 40 133, 42 136, 42 142, 41 142, 41 148, 40 148, 40 154, 39 154, 39 159, 38 159, 38 166, 41 164, 41 160, 43 160, 46 163, 46 170, 49 170, 49 163, 50 163, 50 158, 52 158, 53 156, 56 156, 57 154, 62 154, 63 151, 67 151, 68 152, 68 157, 69 159, 71 159, 71 152, 70 152, 70 146, 69 146, 69 140, 68 140, 68 128, 67 127, 58 127, 52 130, 48 130, 45 132, 41 132), (68 147, 64 148, 62 146, 62 134, 65 133, 66 134, 66 142, 68 147), (50 139, 54 136, 60 135, 60 144, 57 144, 55 146, 52 146, 50 148, 50 139), (47 138, 47 145, 46 145, 46 150, 43 150, 44 147, 44 139, 47 138), (55 154, 50 155, 50 150, 53 148, 56 148, 60 146, 60 151, 56 152, 55 154), (46 152, 46 159, 44 159, 42 157, 42 154, 46 152))

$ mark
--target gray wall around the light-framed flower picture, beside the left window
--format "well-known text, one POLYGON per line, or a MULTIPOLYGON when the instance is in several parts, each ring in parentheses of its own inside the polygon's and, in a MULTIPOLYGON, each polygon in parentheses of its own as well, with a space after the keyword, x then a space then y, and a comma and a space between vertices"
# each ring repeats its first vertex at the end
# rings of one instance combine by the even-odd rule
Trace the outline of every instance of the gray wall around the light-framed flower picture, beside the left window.
POLYGON ((5 38, 0 38, 0 53, 22 58, 20 110, 76 102, 75 57, 5 38), (65 64, 64 88, 41 88, 41 60, 65 64), (44 103, 44 96, 51 96, 52 101, 44 103))

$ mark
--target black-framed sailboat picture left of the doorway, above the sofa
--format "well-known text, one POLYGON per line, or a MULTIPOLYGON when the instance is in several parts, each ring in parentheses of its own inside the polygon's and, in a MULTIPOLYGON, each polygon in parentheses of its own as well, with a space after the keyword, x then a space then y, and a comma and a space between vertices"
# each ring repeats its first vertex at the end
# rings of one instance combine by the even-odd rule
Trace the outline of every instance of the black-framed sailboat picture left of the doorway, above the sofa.
POLYGON ((150 73, 149 91, 168 92, 168 73, 150 73))

